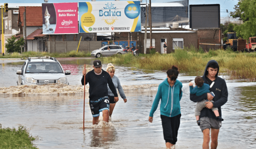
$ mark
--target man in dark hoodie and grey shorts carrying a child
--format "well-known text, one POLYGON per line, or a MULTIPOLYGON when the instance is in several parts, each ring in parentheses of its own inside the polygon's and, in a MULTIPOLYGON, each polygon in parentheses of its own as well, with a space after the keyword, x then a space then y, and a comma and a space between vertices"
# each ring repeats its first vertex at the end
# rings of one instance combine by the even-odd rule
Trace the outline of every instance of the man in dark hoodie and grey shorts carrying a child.
POLYGON ((202 145, 203 149, 209 149, 210 143, 210 129, 211 129, 211 149, 217 149, 218 146, 218 135, 219 129, 221 128, 221 121, 217 121, 215 114, 211 110, 213 107, 218 108, 219 116, 221 116, 221 106, 227 102, 227 85, 224 79, 218 77, 219 64, 216 60, 210 60, 205 68, 203 79, 204 83, 209 84, 212 87, 209 89, 215 94, 215 97, 210 93, 204 93, 201 96, 196 96, 195 94, 190 94, 190 100, 194 102, 202 101, 203 99, 208 99, 205 102, 206 106, 202 109, 200 114, 200 129, 204 135, 204 142, 202 145), (210 101, 213 100, 214 103, 210 101))

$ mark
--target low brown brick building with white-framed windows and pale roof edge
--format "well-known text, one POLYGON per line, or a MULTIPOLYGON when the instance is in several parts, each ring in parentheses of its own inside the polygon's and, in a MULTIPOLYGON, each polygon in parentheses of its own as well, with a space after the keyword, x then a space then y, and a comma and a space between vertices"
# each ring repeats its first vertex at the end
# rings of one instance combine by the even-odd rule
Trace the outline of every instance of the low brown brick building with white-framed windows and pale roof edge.
MULTIPOLYGON (((115 34, 116 35, 116 34, 115 34)), ((118 40, 137 40, 136 48, 144 53, 145 28, 141 32, 121 32, 118 40), (129 39, 128 39, 129 38, 129 39)), ((196 30, 185 28, 152 28, 152 47, 156 52, 163 53, 163 44, 167 44, 167 53, 174 52, 175 48, 194 46, 198 48, 198 36, 196 30)), ((147 53, 150 52, 150 28, 147 28, 147 53)))

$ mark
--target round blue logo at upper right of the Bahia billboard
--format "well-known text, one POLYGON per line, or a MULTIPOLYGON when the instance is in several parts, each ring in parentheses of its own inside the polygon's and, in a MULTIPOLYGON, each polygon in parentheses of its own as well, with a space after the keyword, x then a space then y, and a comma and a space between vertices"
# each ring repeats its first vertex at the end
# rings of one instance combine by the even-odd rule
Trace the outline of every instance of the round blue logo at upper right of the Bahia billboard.
POLYGON ((128 4, 124 8, 124 14, 130 19, 137 18, 140 14, 140 6, 136 4, 128 4))

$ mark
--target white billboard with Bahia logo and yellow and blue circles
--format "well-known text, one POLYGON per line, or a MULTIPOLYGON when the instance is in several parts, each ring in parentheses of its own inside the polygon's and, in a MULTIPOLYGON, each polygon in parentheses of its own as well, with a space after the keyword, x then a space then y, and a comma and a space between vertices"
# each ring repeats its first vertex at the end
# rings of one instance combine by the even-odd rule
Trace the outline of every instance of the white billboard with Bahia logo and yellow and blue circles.
POLYGON ((79 33, 140 32, 140 1, 78 2, 79 33))

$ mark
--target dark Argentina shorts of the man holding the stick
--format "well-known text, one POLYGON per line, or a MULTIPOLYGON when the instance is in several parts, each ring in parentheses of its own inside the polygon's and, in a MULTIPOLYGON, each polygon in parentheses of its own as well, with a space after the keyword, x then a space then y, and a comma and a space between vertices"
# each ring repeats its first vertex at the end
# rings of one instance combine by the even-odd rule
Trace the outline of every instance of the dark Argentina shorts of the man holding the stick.
POLYGON ((103 110, 109 111, 109 99, 107 96, 102 97, 96 101, 90 100, 90 108, 91 108, 91 114, 93 117, 98 117, 99 112, 102 112, 103 110))

